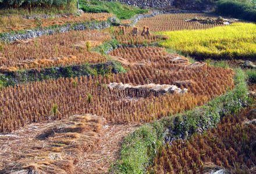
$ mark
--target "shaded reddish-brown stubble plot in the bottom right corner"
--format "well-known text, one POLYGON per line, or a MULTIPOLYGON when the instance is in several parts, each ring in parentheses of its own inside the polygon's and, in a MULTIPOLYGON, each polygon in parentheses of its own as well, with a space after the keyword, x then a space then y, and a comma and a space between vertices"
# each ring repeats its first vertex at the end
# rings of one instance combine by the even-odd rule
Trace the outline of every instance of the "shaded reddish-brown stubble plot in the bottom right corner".
POLYGON ((255 173, 256 127, 250 108, 228 115, 210 131, 191 139, 166 144, 148 171, 154 173, 207 173, 229 169, 232 173, 255 173))

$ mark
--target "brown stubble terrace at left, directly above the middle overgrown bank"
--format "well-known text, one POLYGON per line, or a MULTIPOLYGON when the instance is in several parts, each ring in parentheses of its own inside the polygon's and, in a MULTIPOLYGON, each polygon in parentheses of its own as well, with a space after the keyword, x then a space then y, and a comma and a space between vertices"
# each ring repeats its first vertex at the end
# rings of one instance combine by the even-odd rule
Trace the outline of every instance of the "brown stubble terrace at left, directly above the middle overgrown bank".
MULTIPOLYGON (((83 43, 101 43, 109 39, 109 34, 102 31, 70 31, 30 39, 28 42, 1 44, 0 67, 29 69, 102 62, 106 57, 89 52, 83 48, 83 43)), ((90 45, 93 47, 93 44, 90 45)))

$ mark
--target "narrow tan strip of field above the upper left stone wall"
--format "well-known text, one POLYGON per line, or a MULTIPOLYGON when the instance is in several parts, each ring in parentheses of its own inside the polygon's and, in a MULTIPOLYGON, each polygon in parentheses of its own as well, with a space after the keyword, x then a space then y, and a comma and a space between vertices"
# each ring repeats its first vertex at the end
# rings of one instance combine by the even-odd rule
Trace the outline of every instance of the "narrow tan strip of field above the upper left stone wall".
POLYGON ((113 14, 110 13, 84 13, 81 16, 49 17, 47 19, 24 19, 22 16, 0 17, 0 32, 27 30, 36 27, 63 26, 66 23, 83 23, 91 20, 104 21, 113 14))

